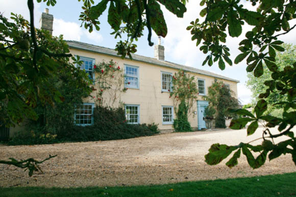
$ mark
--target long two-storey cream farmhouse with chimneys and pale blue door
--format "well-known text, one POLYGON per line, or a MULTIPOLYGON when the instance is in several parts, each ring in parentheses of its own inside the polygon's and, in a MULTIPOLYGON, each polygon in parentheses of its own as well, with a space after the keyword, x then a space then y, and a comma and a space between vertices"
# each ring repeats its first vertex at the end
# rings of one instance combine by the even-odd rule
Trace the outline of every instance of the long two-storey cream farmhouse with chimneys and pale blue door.
MULTIPOLYGON (((40 18, 41 28, 52 33, 53 19, 53 15, 48 14, 48 9, 45 9, 40 18)), ((207 95, 208 87, 215 79, 228 85, 235 94, 234 96, 237 97, 237 83, 239 81, 202 69, 165 61, 164 46, 161 45, 160 38, 158 44, 154 47, 154 58, 134 54, 132 55, 133 60, 129 57, 121 59, 117 52, 111 48, 71 40, 67 43, 70 53, 73 56, 79 56, 80 60, 83 61, 81 69, 84 69, 94 80, 98 77, 93 72, 94 65, 100 62, 112 60, 120 69, 123 69, 122 78, 124 79, 122 79, 121 86, 128 90, 121 93, 120 97, 117 98, 116 105, 112 107, 123 106, 127 121, 130 124, 155 123, 160 130, 171 131, 173 129, 177 105, 174 106, 174 102, 169 96, 169 90, 172 85, 172 76, 180 69, 194 76, 195 83, 198 85, 199 95, 188 114, 188 120, 194 129, 206 128, 203 112, 205 107, 208 106, 208 101, 206 101, 205 95, 207 95)), ((77 125, 87 126, 93 123, 93 108, 97 103, 93 97, 98 93, 97 91, 100 91, 95 83, 93 86, 95 91, 79 107, 78 113, 73 114, 77 125)), ((17 129, 11 128, 10 136, 17 129)))

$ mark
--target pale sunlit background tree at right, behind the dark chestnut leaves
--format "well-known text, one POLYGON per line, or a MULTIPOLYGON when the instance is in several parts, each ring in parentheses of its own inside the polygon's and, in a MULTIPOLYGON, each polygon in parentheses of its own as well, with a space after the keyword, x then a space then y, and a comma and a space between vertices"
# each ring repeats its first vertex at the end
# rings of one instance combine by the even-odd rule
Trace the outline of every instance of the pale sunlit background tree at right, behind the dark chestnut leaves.
MULTIPOLYGON (((283 53, 277 53, 276 55, 276 64, 279 67, 279 70, 284 70, 284 68, 288 65, 291 65, 296 61, 296 46, 291 44, 283 44, 285 48, 283 53)), ((268 89, 268 86, 264 85, 265 81, 272 80, 272 72, 268 70, 266 64, 263 64, 264 73, 262 76, 256 78, 252 73, 248 73, 248 81, 246 85, 252 91, 253 97, 253 105, 259 101, 259 95, 264 94, 264 92, 268 89)), ((275 90, 270 92, 269 96, 265 99, 267 102, 268 108, 265 114, 272 114, 277 117, 282 118, 283 109, 280 105, 274 105, 279 102, 288 102, 288 98, 286 94, 280 94, 279 90, 275 90)))

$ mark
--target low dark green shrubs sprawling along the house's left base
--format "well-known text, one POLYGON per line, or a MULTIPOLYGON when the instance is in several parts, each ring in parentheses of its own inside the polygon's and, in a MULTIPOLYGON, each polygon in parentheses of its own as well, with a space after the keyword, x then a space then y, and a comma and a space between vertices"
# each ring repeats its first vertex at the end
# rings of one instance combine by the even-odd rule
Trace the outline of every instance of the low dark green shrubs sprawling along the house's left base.
POLYGON ((57 135, 48 133, 44 130, 44 127, 34 128, 31 125, 30 129, 17 133, 8 144, 45 144, 65 141, 115 140, 151 136, 159 133, 158 126, 154 123, 150 125, 128 124, 125 111, 122 108, 112 109, 96 107, 94 108, 93 117, 93 125, 68 125, 63 131, 58 131, 57 135))

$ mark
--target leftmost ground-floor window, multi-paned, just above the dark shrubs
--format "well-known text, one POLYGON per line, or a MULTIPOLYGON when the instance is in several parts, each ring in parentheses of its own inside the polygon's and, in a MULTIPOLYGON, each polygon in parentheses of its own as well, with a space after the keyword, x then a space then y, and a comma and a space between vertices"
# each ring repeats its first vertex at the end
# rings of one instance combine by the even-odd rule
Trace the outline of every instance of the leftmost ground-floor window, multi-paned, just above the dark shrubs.
POLYGON ((84 103, 76 108, 75 124, 88 126, 93 124, 93 103, 84 103))

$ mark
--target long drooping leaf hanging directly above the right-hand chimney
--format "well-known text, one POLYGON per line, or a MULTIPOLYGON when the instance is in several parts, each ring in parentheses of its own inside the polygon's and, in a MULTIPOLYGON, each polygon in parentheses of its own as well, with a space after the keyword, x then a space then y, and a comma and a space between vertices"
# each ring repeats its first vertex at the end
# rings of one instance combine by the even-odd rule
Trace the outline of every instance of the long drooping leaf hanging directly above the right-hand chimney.
POLYGON ((158 36, 165 37, 167 34, 167 27, 160 5, 156 1, 152 0, 149 1, 147 6, 149 7, 151 13, 150 22, 152 29, 158 36))

